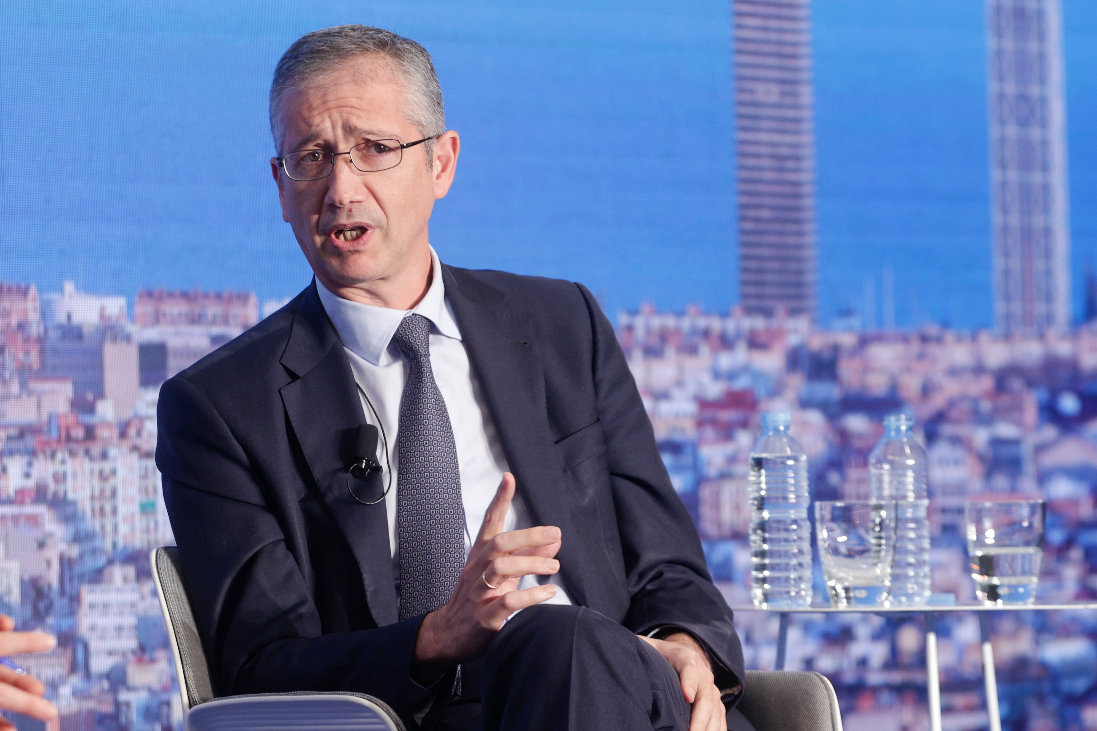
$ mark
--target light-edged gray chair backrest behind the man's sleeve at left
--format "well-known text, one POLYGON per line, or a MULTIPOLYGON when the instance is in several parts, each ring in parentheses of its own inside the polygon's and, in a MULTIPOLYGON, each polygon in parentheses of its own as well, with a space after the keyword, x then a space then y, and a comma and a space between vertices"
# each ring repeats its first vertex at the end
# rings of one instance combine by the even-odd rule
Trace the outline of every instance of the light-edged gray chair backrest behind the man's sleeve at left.
POLYGON ((190 599, 186 598, 179 549, 173 546, 155 548, 149 561, 152 563, 156 593, 160 596, 160 610, 168 626, 171 654, 176 659, 179 695, 182 697, 183 711, 188 711, 216 697, 210 665, 205 650, 202 649, 202 638, 194 621, 194 613, 191 612, 190 599))

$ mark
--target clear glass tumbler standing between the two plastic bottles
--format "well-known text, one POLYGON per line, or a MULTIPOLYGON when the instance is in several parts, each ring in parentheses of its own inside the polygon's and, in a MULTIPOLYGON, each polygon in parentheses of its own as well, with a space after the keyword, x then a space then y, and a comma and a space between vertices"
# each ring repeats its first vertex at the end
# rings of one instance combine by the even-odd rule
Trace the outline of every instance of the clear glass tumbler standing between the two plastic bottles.
POLYGON ((887 606, 895 501, 817 501, 815 541, 830 604, 887 606))

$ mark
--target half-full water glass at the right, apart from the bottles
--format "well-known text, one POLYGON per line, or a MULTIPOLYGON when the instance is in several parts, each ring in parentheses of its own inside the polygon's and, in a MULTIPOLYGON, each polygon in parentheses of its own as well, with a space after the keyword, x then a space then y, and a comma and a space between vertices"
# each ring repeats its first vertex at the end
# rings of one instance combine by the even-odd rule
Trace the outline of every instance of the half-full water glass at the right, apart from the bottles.
POLYGON ((984 604, 1032 604, 1043 558, 1042 500, 969 500, 968 556, 984 604))

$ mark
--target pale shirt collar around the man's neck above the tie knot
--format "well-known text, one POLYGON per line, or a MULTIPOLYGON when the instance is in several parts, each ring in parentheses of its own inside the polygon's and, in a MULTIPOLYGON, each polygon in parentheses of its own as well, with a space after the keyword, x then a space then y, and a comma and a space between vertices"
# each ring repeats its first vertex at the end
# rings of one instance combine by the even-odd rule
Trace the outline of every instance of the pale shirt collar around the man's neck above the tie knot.
POLYGON ((392 358, 385 357, 388 345, 408 315, 421 315, 430 320, 432 330, 446 338, 461 340, 461 331, 453 319, 453 312, 445 301, 445 283, 442 282, 442 263, 438 252, 430 247, 431 281, 430 288, 419 304, 410 310, 396 310, 375 305, 363 305, 336 295, 316 279, 316 292, 320 302, 336 332, 342 339, 343 345, 359 357, 373 365, 384 365, 392 358))

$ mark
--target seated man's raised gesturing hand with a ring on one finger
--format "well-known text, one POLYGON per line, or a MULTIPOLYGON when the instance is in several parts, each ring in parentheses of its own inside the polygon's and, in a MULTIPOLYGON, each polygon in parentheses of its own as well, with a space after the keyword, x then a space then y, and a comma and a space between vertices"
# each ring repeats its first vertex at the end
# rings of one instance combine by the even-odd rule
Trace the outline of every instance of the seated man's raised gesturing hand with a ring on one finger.
POLYGON ((488 642, 514 612, 556 595, 553 584, 517 591, 524 575, 559 571, 559 561, 554 557, 562 541, 561 530, 555 526, 504 532, 513 496, 514 476, 507 472, 484 515, 453 595, 444 606, 427 615, 419 627, 411 672, 422 685, 484 654, 488 642))

